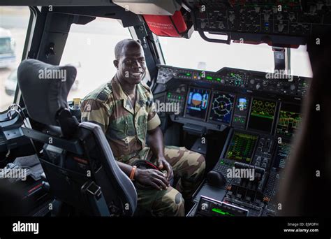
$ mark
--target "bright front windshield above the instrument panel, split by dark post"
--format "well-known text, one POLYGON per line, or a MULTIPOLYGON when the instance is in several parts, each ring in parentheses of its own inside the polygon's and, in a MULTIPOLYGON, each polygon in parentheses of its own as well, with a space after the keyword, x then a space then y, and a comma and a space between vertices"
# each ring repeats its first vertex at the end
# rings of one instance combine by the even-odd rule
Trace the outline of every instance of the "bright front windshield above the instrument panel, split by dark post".
MULTIPOLYGON (((182 68, 218 71, 223 67, 250 71, 274 71, 274 52, 267 44, 209 43, 194 31, 190 39, 160 37, 166 64, 182 68)), ((305 46, 291 49, 293 75, 311 77, 309 57, 305 46), (302 67, 304 66, 304 67, 302 67)))

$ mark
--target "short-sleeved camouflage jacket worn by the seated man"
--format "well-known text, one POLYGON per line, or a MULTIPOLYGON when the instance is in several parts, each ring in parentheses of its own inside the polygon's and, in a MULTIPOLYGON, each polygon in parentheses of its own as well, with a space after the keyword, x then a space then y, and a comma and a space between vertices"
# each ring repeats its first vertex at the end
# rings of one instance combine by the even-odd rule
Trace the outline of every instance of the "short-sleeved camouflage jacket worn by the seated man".
POLYGON ((81 111, 82 122, 101 126, 115 159, 124 163, 133 157, 145 157, 147 130, 161 123, 149 87, 143 82, 136 86, 133 108, 116 76, 85 96, 81 111))

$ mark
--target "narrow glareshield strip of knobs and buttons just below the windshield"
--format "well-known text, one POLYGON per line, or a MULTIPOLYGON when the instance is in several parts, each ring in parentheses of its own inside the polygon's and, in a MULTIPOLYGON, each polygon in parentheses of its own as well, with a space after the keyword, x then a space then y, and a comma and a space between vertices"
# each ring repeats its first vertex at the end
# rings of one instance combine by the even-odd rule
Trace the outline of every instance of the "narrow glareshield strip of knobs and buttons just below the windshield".
POLYGON ((224 67, 217 72, 200 71, 172 66, 159 66, 157 83, 167 84, 170 80, 220 87, 232 92, 277 94, 301 99, 309 88, 311 78, 285 73, 266 73, 224 67))

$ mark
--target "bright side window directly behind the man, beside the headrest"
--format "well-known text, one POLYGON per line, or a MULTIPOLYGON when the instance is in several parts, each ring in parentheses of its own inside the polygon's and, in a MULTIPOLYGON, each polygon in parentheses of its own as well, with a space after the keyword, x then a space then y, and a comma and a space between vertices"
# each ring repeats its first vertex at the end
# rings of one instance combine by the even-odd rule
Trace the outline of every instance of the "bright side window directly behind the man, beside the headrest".
POLYGON ((86 25, 72 24, 61 65, 72 64, 77 77, 68 101, 83 98, 115 75, 114 49, 119 41, 132 38, 117 20, 97 17, 86 25))

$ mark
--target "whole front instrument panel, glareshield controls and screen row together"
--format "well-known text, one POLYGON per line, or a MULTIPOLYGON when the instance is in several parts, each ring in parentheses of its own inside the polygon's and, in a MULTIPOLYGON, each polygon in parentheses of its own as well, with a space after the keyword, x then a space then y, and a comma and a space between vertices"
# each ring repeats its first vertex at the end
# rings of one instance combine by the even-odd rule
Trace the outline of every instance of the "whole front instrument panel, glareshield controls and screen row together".
POLYGON ((157 82, 161 82, 166 89, 165 103, 175 103, 180 109, 177 114, 170 112, 174 122, 196 123, 216 131, 233 126, 235 129, 272 135, 277 133, 290 138, 300 125, 300 107, 297 105, 306 94, 311 79, 291 76, 294 79, 292 82, 270 80, 270 85, 283 86, 276 92, 266 83, 262 83, 263 88, 257 89, 255 86, 255 90, 250 90, 252 82, 258 84, 256 82, 263 81, 261 77, 267 74, 233 68, 210 73, 159 66, 157 82), (292 87, 292 91, 286 91, 286 84, 296 86, 292 87), (296 87, 299 89, 295 91, 296 87), (280 119, 277 118, 279 114, 280 119), (276 125, 277 122, 279 125, 276 125))

